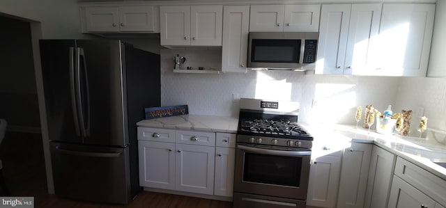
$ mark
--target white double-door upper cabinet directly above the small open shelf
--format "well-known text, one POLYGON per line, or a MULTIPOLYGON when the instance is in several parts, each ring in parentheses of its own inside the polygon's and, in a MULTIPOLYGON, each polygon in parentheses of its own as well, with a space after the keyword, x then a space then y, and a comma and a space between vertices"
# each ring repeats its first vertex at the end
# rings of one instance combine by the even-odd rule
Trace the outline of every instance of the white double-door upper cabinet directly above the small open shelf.
POLYGON ((221 46, 223 6, 161 6, 161 45, 221 46))

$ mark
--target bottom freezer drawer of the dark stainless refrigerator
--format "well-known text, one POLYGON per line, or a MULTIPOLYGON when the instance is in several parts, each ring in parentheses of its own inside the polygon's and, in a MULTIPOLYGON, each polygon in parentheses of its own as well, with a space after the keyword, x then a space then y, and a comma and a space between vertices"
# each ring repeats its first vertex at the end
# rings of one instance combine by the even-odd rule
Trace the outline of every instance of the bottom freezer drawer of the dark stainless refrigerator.
POLYGON ((56 195, 93 202, 128 203, 128 147, 50 143, 56 195))

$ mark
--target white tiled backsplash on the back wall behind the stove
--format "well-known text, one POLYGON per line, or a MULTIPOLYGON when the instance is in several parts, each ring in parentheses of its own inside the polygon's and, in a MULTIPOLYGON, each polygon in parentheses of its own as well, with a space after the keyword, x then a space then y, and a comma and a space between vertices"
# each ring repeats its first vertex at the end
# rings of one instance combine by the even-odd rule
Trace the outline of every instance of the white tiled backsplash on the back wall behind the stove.
POLYGON ((305 75, 303 72, 251 71, 247 74, 179 74, 174 56, 185 56, 186 66, 216 67, 215 50, 161 50, 162 105, 188 104, 190 114, 238 116, 239 97, 300 102, 300 122, 355 124, 356 106, 374 104, 385 110, 397 97, 397 77, 305 75), (313 99, 316 105, 312 106, 313 99))

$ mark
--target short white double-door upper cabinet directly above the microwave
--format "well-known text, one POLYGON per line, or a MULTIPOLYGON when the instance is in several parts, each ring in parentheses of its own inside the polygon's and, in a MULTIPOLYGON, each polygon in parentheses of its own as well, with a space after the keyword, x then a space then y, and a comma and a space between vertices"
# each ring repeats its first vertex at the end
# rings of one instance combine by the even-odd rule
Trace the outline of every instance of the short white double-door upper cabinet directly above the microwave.
POLYGON ((252 5, 249 31, 317 32, 321 5, 252 5))

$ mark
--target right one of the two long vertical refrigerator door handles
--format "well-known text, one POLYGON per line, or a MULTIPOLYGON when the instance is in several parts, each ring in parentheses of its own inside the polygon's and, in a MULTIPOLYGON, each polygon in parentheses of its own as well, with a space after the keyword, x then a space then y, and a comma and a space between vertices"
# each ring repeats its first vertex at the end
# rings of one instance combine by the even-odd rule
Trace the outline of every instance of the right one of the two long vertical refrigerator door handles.
MULTIPOLYGON (((81 86, 85 86, 85 99, 81 102, 81 104, 84 104, 83 102, 86 102, 86 109, 83 109, 82 111, 86 111, 86 120, 84 118, 84 114, 82 114, 82 121, 84 122, 82 127, 84 128, 84 137, 90 136, 90 88, 89 88, 89 74, 87 73, 86 69, 86 61, 85 61, 85 53, 84 49, 79 47, 79 58, 82 57, 82 72, 79 72, 79 74, 83 75, 80 79, 81 86)), ((79 65, 79 70, 81 69, 79 65)), ((82 89, 82 88, 81 88, 82 89)))

